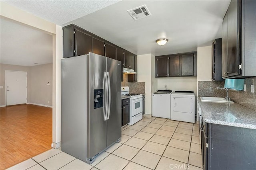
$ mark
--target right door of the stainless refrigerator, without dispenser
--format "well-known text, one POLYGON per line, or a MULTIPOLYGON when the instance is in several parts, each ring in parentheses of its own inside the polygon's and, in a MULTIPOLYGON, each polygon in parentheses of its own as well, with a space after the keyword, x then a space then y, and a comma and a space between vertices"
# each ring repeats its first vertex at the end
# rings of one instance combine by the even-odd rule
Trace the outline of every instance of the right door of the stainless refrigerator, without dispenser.
POLYGON ((121 138, 121 62, 107 58, 107 72, 110 80, 110 112, 107 122, 107 146, 121 138))

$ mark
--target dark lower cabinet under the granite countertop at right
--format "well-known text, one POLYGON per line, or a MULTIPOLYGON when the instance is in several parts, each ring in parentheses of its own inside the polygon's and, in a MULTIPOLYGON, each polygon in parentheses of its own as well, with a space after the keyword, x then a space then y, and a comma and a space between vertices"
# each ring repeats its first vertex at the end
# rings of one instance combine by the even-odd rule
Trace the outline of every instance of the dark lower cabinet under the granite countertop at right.
POLYGON ((205 126, 201 145, 204 170, 256 169, 256 129, 212 123, 205 126))

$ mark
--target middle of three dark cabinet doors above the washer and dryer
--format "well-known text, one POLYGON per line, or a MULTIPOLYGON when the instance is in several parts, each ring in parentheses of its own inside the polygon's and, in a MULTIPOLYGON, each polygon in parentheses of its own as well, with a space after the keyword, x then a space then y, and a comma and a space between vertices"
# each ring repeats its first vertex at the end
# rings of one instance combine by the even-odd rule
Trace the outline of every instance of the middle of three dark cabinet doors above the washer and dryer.
POLYGON ((180 76, 180 55, 173 55, 169 59, 169 76, 180 76))

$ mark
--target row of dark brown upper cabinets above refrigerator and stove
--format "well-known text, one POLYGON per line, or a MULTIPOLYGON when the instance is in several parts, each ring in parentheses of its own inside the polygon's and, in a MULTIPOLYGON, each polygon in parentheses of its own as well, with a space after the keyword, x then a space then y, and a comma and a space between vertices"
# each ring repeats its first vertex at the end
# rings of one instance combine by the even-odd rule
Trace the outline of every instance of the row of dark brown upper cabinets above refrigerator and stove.
MULTIPOLYGON (((74 24, 63 27, 63 57, 74 57, 89 54, 89 52, 116 59, 122 63, 122 81, 124 65, 137 72, 137 56, 124 50, 93 33, 90 33, 74 24)), ((131 76, 129 76, 131 77, 131 76)), ((132 76, 137 81, 137 74, 132 76)))

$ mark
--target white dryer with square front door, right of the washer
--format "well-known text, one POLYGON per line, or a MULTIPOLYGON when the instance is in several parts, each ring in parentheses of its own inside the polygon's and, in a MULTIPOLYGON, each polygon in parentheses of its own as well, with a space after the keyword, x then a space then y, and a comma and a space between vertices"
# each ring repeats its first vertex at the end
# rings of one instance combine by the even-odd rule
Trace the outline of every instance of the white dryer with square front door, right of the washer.
POLYGON ((195 94, 175 91, 171 95, 171 120, 195 123, 195 94))

